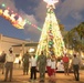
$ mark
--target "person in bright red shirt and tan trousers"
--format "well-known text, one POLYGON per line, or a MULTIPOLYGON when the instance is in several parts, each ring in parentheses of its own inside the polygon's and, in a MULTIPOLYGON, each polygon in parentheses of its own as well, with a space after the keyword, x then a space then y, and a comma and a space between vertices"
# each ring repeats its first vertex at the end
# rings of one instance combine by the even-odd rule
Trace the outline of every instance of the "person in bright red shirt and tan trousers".
POLYGON ((64 73, 65 73, 65 75, 69 75, 70 59, 69 59, 69 56, 65 54, 62 60, 63 60, 63 65, 64 65, 64 73))

